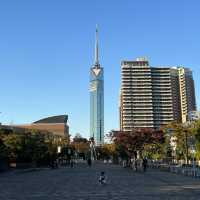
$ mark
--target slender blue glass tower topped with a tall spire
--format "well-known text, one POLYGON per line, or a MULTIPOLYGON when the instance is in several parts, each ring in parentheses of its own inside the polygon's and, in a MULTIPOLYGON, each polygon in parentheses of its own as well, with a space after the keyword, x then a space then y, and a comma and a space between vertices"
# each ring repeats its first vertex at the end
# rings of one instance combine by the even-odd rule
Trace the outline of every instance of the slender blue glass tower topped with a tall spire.
POLYGON ((104 143, 104 74, 99 64, 97 29, 95 63, 90 69, 90 137, 94 138, 97 146, 104 143))

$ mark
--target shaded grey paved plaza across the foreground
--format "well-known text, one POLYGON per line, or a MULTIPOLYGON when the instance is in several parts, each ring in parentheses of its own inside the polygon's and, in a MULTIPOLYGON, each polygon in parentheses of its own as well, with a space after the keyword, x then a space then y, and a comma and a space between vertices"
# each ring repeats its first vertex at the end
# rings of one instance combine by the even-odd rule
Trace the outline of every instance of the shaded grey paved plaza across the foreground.
POLYGON ((12 171, 0 174, 0 200, 200 199, 200 180, 149 170, 136 173, 116 165, 12 171), (100 171, 107 185, 98 184, 100 171))

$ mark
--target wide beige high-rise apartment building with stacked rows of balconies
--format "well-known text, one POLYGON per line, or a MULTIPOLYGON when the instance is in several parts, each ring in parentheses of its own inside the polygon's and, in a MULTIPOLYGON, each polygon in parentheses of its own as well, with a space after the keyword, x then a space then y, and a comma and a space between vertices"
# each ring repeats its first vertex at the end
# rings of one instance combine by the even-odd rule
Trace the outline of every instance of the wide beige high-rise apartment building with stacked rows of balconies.
POLYGON ((123 61, 121 67, 121 130, 184 122, 184 116, 196 109, 190 69, 151 67, 145 58, 123 61))

